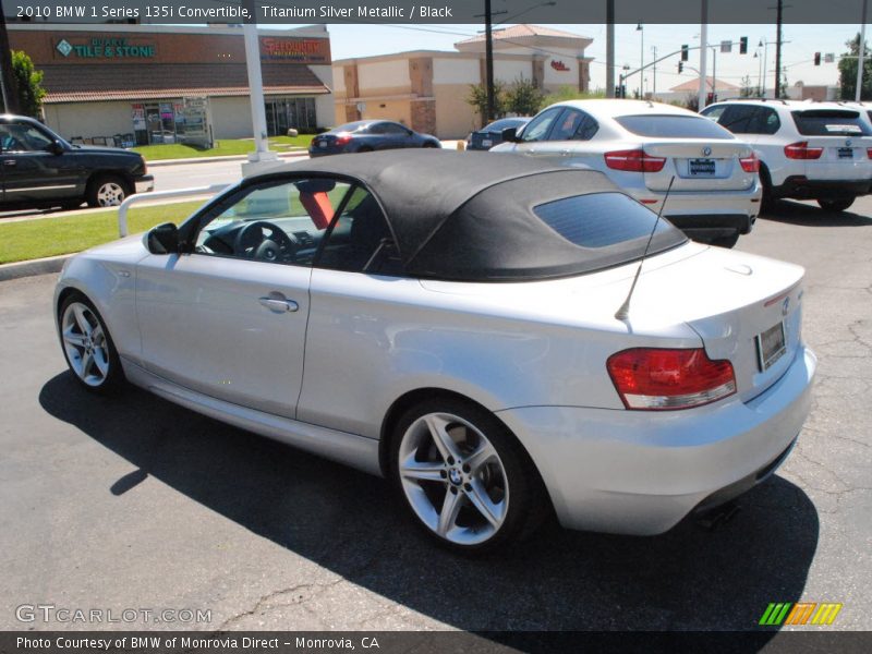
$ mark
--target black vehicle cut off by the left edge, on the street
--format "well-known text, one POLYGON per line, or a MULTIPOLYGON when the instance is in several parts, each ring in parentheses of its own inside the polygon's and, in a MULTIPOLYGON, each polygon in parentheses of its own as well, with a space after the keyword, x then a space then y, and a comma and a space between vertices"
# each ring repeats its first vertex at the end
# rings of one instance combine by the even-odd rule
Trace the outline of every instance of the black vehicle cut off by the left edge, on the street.
POLYGON ((132 193, 153 191, 138 153, 71 145, 32 118, 0 116, 3 210, 47 206, 120 205, 132 193))

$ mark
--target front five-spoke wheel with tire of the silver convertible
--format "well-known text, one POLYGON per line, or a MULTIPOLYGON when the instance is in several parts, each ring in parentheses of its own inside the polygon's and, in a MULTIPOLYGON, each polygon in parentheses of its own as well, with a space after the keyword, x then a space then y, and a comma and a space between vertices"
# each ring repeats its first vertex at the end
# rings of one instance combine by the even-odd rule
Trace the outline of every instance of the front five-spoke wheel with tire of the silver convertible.
POLYGON ((116 390, 124 373, 109 330, 94 304, 76 293, 63 301, 59 315, 63 355, 76 380, 93 392, 116 390))

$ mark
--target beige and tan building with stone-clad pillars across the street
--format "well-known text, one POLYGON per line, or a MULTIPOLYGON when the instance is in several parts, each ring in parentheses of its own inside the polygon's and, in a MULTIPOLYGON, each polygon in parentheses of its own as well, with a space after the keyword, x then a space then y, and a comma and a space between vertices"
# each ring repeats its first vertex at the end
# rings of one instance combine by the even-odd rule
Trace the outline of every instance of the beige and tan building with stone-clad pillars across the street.
MULTIPOLYGON (((536 25, 494 32, 494 78, 530 80, 543 92, 588 90, 592 39, 536 25)), ((460 138, 481 126, 467 102, 485 73, 484 37, 455 44, 456 51, 413 50, 334 62, 336 123, 389 119, 439 138, 460 138)))

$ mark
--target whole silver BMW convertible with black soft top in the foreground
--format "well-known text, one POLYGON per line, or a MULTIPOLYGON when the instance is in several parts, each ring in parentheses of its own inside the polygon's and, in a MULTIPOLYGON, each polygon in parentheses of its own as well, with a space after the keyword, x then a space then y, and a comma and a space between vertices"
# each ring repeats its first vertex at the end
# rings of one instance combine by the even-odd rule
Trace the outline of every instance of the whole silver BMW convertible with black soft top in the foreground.
POLYGON ((412 150, 246 179, 70 259, 55 310, 88 389, 126 379, 385 475, 476 552, 552 509, 661 533, 772 473, 811 402, 802 284, 602 173, 412 150))

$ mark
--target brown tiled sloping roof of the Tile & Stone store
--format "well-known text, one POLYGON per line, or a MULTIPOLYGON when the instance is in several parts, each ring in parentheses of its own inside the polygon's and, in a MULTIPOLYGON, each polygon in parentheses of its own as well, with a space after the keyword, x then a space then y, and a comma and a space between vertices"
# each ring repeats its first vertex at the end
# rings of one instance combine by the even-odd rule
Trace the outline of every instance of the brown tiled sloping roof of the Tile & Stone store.
MULTIPOLYGON (((181 96, 246 96, 244 63, 44 65, 45 102, 136 100, 181 96)), ((324 94, 329 89, 308 66, 264 63, 264 94, 324 94)))

